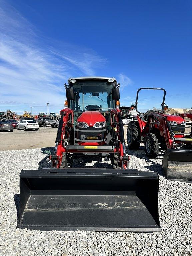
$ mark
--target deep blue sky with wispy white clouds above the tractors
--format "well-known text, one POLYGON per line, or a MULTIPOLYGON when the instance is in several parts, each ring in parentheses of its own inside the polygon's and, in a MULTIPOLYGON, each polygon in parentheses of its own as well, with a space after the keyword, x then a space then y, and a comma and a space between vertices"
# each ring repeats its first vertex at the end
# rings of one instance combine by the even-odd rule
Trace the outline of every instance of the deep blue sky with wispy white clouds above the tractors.
POLYGON ((192 1, 0 0, 0 111, 59 112, 68 78, 92 75, 116 77, 121 105, 163 87, 169 107, 191 108, 192 1))

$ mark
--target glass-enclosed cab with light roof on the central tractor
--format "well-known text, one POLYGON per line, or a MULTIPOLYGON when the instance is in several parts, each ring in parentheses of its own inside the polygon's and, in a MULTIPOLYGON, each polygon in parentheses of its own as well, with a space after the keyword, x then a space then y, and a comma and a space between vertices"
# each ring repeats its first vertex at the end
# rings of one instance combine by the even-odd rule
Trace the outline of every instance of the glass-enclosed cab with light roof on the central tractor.
MULTIPOLYGON (((109 112, 115 108, 115 98, 112 92, 117 90, 119 99, 119 85, 115 78, 73 78, 65 84, 68 107, 76 113, 84 111, 109 112)), ((117 95, 116 95, 117 96, 117 95)))

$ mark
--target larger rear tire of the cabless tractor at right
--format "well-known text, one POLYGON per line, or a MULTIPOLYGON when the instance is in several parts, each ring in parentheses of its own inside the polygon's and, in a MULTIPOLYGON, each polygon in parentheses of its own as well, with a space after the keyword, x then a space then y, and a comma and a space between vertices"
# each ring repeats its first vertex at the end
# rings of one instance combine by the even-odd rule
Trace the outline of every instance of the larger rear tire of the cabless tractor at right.
POLYGON ((139 128, 135 122, 130 122, 127 126, 127 145, 129 149, 138 150, 141 138, 139 128))

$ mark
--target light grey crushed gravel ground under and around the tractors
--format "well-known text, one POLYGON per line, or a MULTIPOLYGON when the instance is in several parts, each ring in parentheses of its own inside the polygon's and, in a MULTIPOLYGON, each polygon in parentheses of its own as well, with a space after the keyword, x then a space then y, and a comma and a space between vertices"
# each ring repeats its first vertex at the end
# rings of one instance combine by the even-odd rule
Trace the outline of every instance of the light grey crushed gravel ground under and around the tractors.
MULTIPOLYGON (((21 131, 23 132, 23 131, 21 131)), ((64 232, 16 229, 21 169, 49 167, 53 148, 0 152, 0 255, 115 256, 192 255, 192 184, 168 181, 162 172, 163 152, 155 160, 143 150, 128 151, 129 168, 159 173, 159 218, 162 232, 64 232), (17 210, 16 210, 17 208, 17 210)), ((110 168, 110 161, 78 159, 73 167, 110 168)))

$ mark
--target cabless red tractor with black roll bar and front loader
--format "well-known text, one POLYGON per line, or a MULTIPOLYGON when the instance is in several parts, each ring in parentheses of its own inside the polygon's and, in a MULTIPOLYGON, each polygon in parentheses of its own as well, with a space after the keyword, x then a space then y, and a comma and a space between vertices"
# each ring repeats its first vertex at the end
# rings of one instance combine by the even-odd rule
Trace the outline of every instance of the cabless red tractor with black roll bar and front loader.
POLYGON ((167 179, 191 182, 191 133, 188 137, 186 136, 186 121, 181 116, 165 114, 165 110, 168 109, 165 105, 165 96, 166 91, 162 88, 140 88, 137 91, 135 105, 131 108, 136 109, 139 114, 127 127, 127 144, 129 149, 137 150, 143 141, 149 158, 158 156, 159 146, 167 150, 162 163, 167 179), (141 115, 137 110, 140 90, 163 90, 162 110, 148 110, 141 115))

